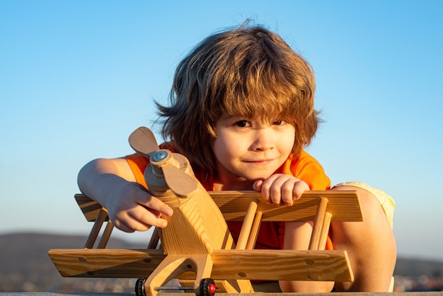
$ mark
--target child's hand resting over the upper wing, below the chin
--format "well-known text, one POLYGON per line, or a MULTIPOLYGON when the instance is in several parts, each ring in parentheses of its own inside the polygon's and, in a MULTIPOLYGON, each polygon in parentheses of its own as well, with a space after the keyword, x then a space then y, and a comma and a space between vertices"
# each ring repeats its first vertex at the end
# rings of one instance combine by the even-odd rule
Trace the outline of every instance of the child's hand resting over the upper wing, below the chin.
POLYGON ((294 200, 298 200, 304 191, 309 190, 309 186, 294 176, 276 173, 266 180, 255 181, 253 189, 260 191, 269 204, 293 205, 294 200))

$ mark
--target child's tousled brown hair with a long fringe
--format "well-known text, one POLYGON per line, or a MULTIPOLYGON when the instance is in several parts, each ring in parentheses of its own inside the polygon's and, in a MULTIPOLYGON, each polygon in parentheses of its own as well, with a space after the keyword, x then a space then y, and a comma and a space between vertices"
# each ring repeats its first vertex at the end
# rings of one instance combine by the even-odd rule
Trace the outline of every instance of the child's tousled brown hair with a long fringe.
POLYGON ((223 113, 284 119, 295 127, 298 155, 316 133, 315 78, 310 65, 276 33, 255 25, 209 35, 178 64, 171 106, 159 108, 163 137, 191 165, 214 169, 211 144, 223 113))

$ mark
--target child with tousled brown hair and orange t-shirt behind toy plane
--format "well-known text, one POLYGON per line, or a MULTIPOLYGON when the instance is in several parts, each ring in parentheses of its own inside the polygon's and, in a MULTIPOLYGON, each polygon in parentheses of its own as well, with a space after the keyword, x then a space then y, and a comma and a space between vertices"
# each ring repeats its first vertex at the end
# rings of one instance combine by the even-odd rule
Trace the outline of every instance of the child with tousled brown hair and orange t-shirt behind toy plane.
MULTIPOLYGON (((164 143, 190 160, 207 190, 258 190, 267 203, 292 205, 305 190, 330 189, 321 165, 304 151, 319 123, 309 64, 280 36, 242 25, 210 35, 178 65, 171 106, 159 107, 164 143)), ((96 159, 79 173, 83 193, 108 209, 124 232, 166 227, 173 210, 151 196, 143 172, 149 159, 132 154, 96 159)), ((351 187, 350 187, 351 186, 351 187)), ((386 292, 396 261, 393 200, 360 183, 364 222, 333 222, 328 249, 347 250, 353 283, 281 281, 283 292, 386 292), (386 213, 385 213, 386 212, 386 213)), ((240 225, 229 223, 234 237, 240 225)), ((312 223, 263 222, 256 248, 308 249, 312 223)))

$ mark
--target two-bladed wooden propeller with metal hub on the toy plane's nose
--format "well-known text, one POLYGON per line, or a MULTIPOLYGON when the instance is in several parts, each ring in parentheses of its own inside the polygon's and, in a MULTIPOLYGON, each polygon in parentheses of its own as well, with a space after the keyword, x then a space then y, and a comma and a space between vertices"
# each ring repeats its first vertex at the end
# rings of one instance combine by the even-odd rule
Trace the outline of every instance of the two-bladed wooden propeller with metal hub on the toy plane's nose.
POLYGON ((149 128, 139 127, 134 130, 129 137, 129 142, 135 152, 149 158, 155 173, 163 174, 166 184, 173 193, 185 198, 197 190, 195 179, 179 166, 180 154, 172 153, 168 149, 160 149, 154 133, 149 128))

